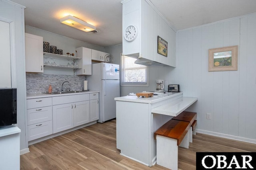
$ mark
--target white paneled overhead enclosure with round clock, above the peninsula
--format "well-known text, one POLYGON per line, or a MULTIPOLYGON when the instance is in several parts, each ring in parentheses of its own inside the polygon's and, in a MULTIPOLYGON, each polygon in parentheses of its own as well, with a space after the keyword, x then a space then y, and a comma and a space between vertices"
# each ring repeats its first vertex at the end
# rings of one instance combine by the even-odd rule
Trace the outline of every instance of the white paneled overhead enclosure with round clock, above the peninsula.
MULTIPOLYGON (((150 2, 149 2, 150 3, 150 2)), ((176 66, 176 32, 146 0, 130 0, 123 4, 123 54, 144 58, 168 66, 176 66), (137 27, 133 41, 124 38, 130 25, 137 27), (158 36, 167 41, 167 57, 158 53, 158 36)))

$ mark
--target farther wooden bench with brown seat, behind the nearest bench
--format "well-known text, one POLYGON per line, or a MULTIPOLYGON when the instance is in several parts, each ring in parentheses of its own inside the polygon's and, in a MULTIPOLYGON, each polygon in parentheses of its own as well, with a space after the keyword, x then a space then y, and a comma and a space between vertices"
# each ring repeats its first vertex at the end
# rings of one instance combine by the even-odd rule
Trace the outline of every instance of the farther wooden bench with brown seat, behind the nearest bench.
POLYGON ((182 111, 176 117, 172 117, 173 120, 180 120, 186 121, 190 123, 190 130, 189 130, 189 141, 192 143, 192 134, 196 135, 196 113, 189 112, 189 111, 182 111))

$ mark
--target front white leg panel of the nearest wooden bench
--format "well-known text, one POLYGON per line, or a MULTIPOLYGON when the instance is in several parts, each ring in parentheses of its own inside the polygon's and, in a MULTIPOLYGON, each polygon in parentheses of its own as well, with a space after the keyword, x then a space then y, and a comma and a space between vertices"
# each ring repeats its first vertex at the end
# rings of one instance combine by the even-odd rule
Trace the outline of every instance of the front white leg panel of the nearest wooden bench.
POLYGON ((156 135, 156 164, 172 170, 178 170, 176 139, 156 135))

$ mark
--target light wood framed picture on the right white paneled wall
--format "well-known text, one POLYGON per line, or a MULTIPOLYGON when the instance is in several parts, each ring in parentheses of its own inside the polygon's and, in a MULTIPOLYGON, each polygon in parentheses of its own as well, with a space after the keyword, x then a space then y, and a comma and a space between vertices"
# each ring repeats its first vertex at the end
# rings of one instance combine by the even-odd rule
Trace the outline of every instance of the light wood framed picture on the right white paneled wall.
POLYGON ((238 46, 209 49, 208 71, 237 70, 238 46))

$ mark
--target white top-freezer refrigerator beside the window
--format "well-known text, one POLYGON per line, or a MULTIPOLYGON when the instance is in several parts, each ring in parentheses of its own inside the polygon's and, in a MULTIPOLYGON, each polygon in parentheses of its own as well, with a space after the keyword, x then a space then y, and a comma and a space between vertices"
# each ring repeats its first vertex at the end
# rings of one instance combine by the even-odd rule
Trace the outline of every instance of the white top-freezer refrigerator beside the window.
POLYGON ((120 97, 119 65, 111 63, 92 64, 92 75, 86 76, 88 90, 99 90, 98 122, 116 117, 116 101, 120 97))

